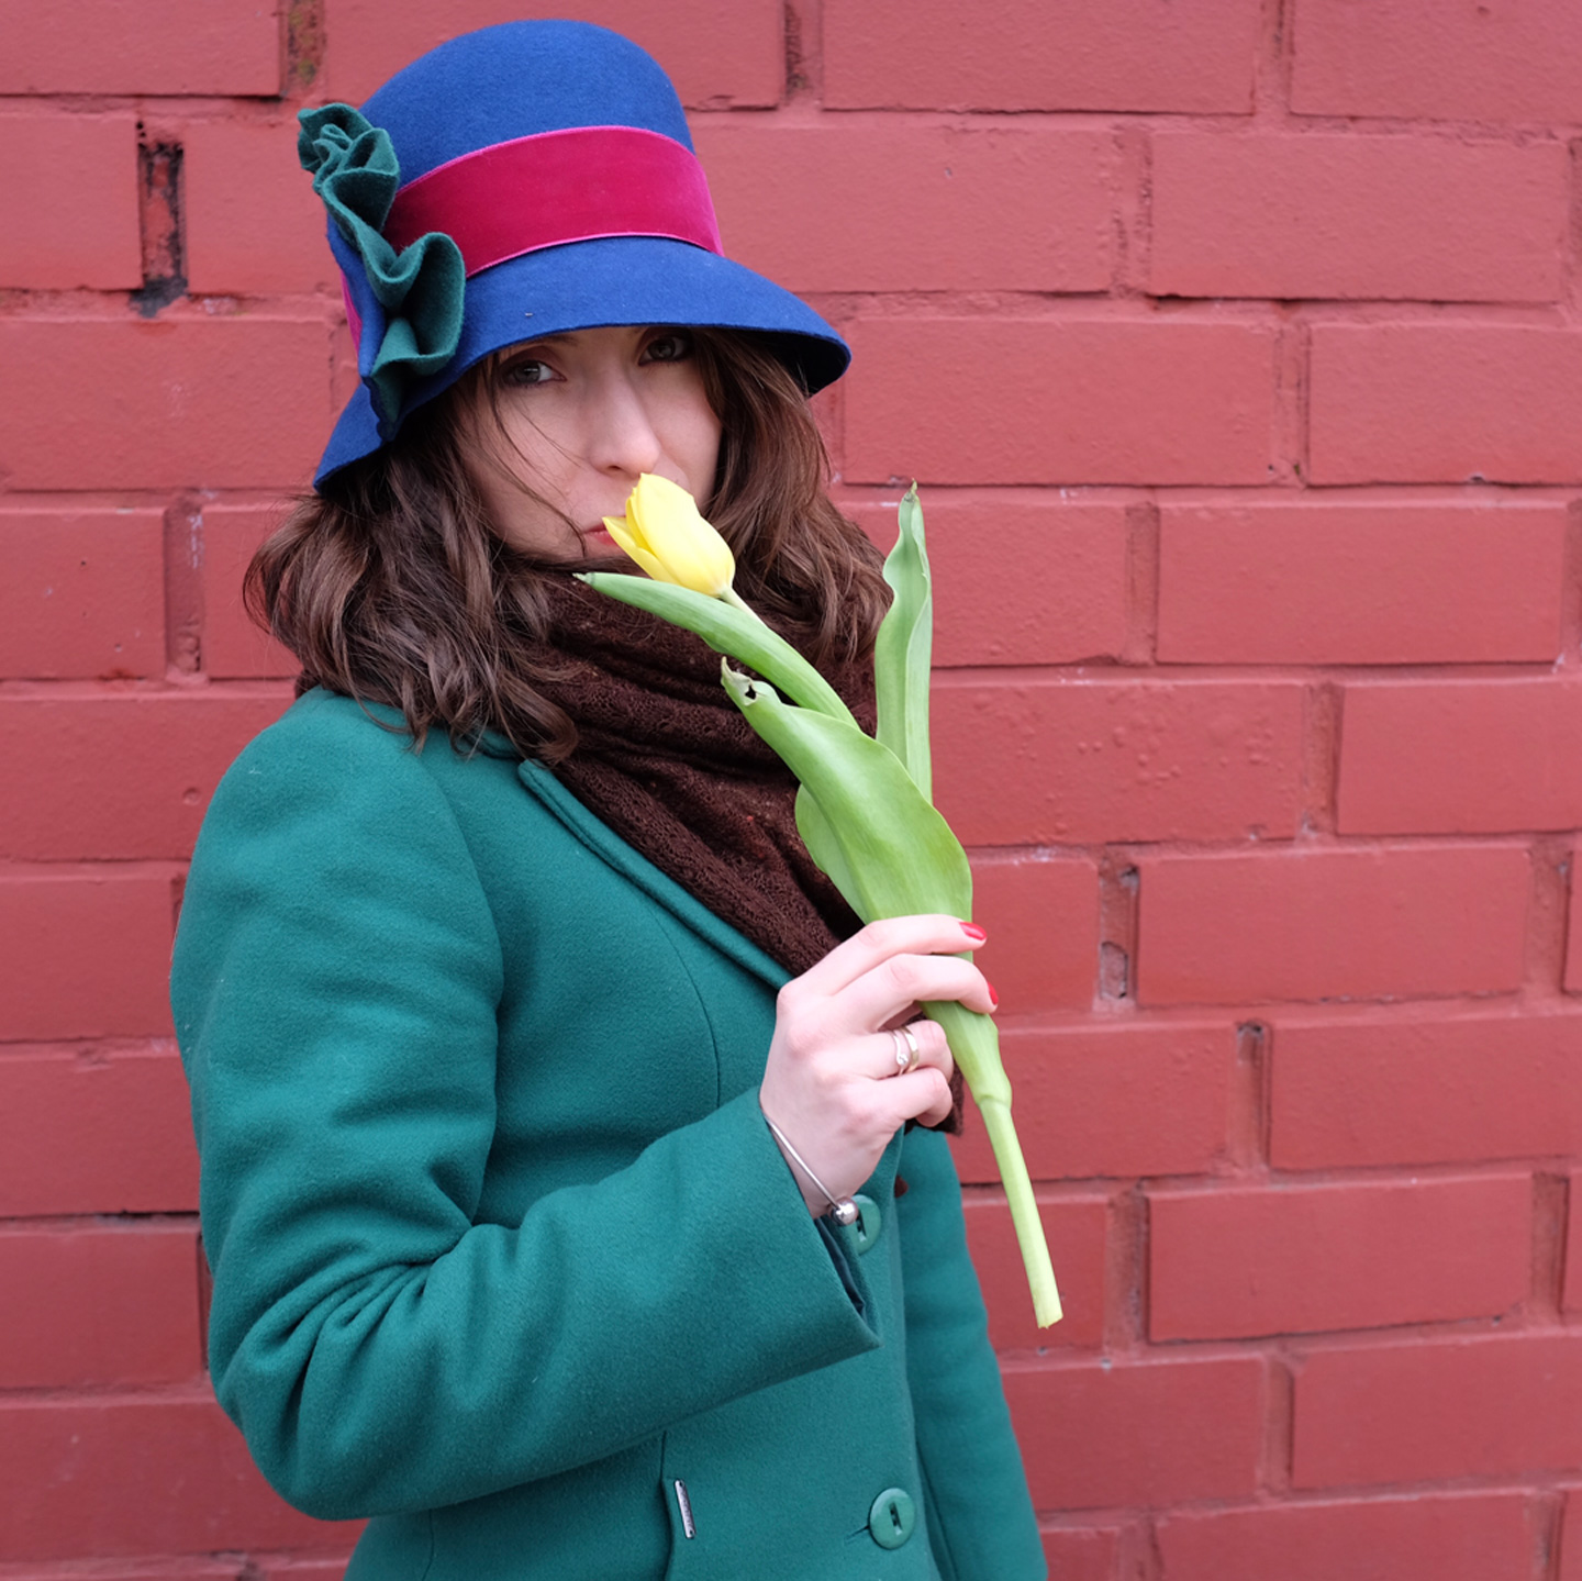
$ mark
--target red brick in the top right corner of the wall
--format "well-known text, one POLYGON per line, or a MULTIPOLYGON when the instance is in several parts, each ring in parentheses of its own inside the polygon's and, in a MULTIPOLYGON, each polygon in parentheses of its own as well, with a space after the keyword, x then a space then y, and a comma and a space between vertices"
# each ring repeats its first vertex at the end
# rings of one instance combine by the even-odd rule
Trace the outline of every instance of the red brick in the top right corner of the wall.
POLYGON ((1291 108, 1302 116, 1582 120, 1582 16, 1519 6, 1297 0, 1291 108))

